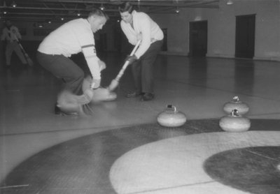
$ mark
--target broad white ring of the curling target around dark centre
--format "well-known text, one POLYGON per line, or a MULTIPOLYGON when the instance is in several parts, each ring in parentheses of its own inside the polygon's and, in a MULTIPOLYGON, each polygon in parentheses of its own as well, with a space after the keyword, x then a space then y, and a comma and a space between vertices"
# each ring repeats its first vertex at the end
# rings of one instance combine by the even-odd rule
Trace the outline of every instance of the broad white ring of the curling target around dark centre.
MULTIPOLYGON (((209 172, 204 170, 204 161, 223 151, 260 146, 268 146, 269 150, 280 146, 279 140, 279 131, 246 131, 202 133, 151 142, 118 158, 111 167, 110 180, 113 188, 120 194, 150 191, 178 194, 217 191, 247 193, 246 189, 234 188, 209 176, 209 172)), ((277 148, 276 152, 279 151, 279 147, 277 148)), ((279 161, 274 163, 274 171, 277 171, 277 164, 279 161)), ((230 174, 235 174, 235 171, 230 171, 230 174)), ((266 186, 262 193, 273 188, 269 184, 266 186)))

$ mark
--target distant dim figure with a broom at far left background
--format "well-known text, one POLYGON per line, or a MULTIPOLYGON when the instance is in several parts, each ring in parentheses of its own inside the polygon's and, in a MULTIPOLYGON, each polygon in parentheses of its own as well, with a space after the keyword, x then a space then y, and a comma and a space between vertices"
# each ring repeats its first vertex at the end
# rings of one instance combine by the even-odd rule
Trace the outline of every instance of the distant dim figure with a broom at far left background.
POLYGON ((6 40, 6 67, 10 67, 10 58, 12 57, 13 52, 15 52, 20 61, 24 66, 27 66, 27 60, 25 59, 25 55, 22 53, 20 45, 17 42, 17 39, 20 40, 22 36, 20 35, 20 31, 15 27, 10 20, 6 20, 6 27, 2 31, 1 40, 6 40))

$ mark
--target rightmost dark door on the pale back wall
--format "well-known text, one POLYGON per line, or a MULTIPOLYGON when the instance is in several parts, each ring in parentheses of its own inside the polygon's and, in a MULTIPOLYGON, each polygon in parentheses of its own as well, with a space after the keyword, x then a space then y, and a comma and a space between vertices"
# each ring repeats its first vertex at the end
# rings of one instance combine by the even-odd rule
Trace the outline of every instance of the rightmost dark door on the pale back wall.
POLYGON ((255 15, 236 17, 235 57, 253 59, 255 54, 255 15))

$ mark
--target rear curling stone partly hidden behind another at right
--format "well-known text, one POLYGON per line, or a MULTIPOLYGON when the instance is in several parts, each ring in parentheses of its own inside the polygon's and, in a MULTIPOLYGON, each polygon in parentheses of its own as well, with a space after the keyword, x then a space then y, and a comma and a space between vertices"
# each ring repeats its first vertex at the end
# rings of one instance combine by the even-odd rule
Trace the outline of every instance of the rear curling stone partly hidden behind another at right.
POLYGON ((223 110, 227 114, 230 114, 232 110, 235 109, 238 110, 238 113, 242 115, 246 114, 249 111, 248 105, 239 100, 238 96, 235 96, 230 102, 225 103, 225 105, 223 106, 223 110))

